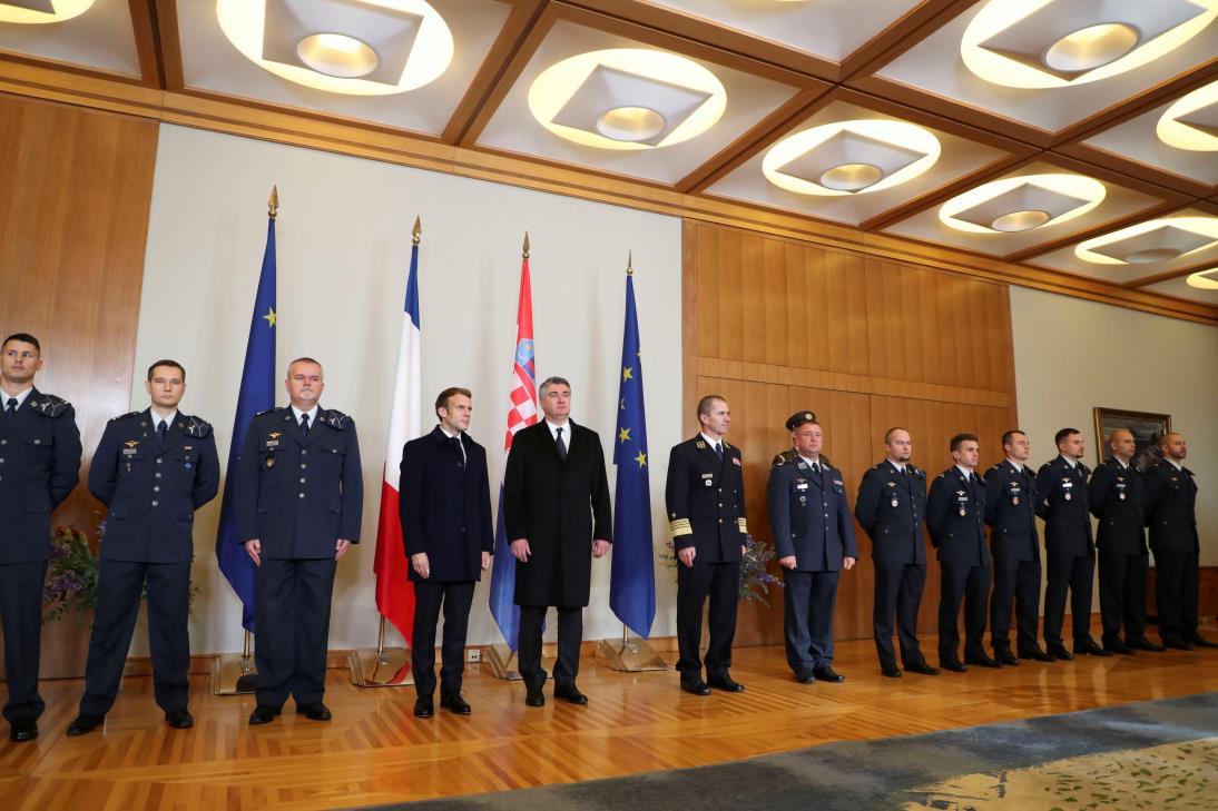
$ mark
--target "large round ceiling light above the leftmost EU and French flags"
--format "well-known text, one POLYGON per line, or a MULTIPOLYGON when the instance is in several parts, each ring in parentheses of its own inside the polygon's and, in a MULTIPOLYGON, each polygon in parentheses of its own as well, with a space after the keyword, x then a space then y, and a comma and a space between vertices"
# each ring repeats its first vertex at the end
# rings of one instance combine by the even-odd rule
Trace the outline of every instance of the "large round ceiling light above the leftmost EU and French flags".
POLYGON ((452 32, 425 0, 217 0, 216 16, 248 60, 328 93, 406 93, 453 57, 452 32))

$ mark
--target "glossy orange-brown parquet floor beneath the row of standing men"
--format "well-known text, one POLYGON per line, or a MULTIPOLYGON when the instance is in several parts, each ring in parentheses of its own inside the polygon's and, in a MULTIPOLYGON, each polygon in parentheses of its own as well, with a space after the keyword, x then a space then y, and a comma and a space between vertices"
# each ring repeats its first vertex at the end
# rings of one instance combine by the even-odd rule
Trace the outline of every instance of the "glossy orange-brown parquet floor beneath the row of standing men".
MULTIPOLYGON (((1203 628, 1211 638, 1214 630, 1203 628)), ((1097 636, 1097 634, 1096 634, 1097 636)), ((934 650, 934 639, 923 648, 934 650)), ((669 660, 675 654, 665 654, 669 660)), ((931 656, 933 660, 933 655, 931 656)), ((412 715, 413 688, 361 689, 329 672, 334 721, 292 714, 251 728, 252 697, 213 697, 191 677, 196 726, 164 726, 149 677, 124 683, 104 731, 68 738, 82 682, 44 682, 41 737, 0 743, 0 809, 135 811, 335 809, 585 781, 737 760, 845 739, 881 738, 1218 690, 1218 650, 938 677, 879 676, 870 641, 838 645, 843 684, 797 684, 781 648, 736 651, 739 695, 677 689, 675 672, 624 675, 581 662, 587 707, 524 705, 524 687, 471 666, 470 717, 412 715)))

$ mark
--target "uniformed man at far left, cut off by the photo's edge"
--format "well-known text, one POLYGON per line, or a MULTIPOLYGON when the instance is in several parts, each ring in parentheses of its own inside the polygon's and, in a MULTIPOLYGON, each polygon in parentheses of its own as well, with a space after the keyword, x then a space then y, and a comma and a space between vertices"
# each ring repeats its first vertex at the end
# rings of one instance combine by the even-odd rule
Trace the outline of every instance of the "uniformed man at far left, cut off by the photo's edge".
POLYGON ((38 693, 43 585, 51 554, 51 510, 80 479, 80 432, 72 406, 34 388, 43 349, 17 332, 0 345, 0 622, 15 742, 38 737, 46 705, 38 693))

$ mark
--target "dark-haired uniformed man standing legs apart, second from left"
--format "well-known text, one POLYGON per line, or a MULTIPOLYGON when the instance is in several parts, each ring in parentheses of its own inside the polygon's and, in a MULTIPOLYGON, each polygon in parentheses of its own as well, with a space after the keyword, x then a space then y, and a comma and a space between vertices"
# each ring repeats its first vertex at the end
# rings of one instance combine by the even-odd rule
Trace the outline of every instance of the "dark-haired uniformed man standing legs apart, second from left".
POLYGON ((145 587, 157 706, 175 729, 195 723, 186 709, 192 530, 195 511, 216 498, 220 463, 212 426, 178 410, 186 393, 180 363, 157 360, 144 387, 152 404, 110 420, 89 469, 89 492, 107 508, 106 532, 84 697, 69 736, 91 732, 113 706, 145 587))

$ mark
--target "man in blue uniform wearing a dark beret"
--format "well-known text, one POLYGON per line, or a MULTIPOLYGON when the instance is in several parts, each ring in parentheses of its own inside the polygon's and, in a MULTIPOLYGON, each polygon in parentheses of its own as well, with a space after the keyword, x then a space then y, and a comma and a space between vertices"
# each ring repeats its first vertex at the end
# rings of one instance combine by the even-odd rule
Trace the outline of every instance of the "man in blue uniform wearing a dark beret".
POLYGON ((770 532, 782 566, 787 664, 795 681, 843 682, 833 670, 833 605, 842 570, 859 558, 842 471, 821 455, 811 412, 787 420, 795 459, 775 457, 766 482, 770 532))

